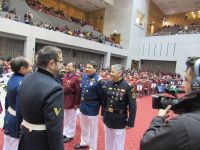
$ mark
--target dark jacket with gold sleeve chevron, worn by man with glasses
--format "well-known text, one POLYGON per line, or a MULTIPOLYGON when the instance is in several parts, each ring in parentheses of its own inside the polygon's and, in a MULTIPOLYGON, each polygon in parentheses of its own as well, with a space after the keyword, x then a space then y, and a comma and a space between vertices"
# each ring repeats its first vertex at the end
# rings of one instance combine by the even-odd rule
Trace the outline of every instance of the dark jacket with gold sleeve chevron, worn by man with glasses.
POLYGON ((46 130, 34 131, 22 126, 19 150, 64 150, 62 87, 48 71, 39 68, 25 77, 20 87, 23 119, 45 124, 46 130))

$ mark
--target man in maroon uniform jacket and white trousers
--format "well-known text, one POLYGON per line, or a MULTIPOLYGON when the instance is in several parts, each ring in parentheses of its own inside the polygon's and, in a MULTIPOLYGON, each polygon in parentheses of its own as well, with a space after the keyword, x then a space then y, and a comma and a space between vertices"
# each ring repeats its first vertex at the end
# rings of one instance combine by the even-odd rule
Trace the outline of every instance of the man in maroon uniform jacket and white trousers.
POLYGON ((63 76, 64 88, 64 142, 71 141, 76 130, 76 110, 80 104, 80 75, 75 73, 76 66, 68 63, 63 76))

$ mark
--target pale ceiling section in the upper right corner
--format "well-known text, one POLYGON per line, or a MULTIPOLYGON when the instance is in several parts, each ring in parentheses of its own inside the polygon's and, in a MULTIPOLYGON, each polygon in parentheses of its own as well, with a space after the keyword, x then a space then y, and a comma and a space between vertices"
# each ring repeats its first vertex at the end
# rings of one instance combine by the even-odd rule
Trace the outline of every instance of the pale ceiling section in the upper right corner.
POLYGON ((153 0, 153 2, 166 15, 200 10, 200 0, 153 0))

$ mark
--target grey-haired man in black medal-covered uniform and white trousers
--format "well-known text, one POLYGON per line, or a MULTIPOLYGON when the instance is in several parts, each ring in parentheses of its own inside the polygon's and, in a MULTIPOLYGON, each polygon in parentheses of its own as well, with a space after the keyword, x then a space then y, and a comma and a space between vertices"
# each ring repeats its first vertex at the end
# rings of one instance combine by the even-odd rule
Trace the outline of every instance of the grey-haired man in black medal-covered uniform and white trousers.
POLYGON ((123 150, 125 128, 134 126, 136 97, 132 86, 122 78, 120 64, 111 67, 111 81, 105 88, 103 122, 105 124, 105 150, 123 150))

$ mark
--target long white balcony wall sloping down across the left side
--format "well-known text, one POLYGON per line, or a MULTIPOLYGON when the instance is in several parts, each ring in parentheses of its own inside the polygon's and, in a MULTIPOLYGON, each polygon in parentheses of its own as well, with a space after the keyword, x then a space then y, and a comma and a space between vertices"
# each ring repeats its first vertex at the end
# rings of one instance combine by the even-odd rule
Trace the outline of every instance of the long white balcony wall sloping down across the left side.
MULTIPOLYGON (((121 58, 126 58, 128 56, 128 51, 126 49, 119 49, 95 41, 90 41, 64 33, 26 25, 24 23, 15 22, 5 18, 0 18, 0 36, 24 39, 24 55, 30 60, 34 60, 35 42, 37 41, 44 41, 45 43, 52 43, 61 47, 71 47, 78 50, 101 53, 104 55, 109 53, 109 56, 117 55, 121 58)), ((106 60, 105 62, 106 66, 109 66, 109 62, 106 60)))

